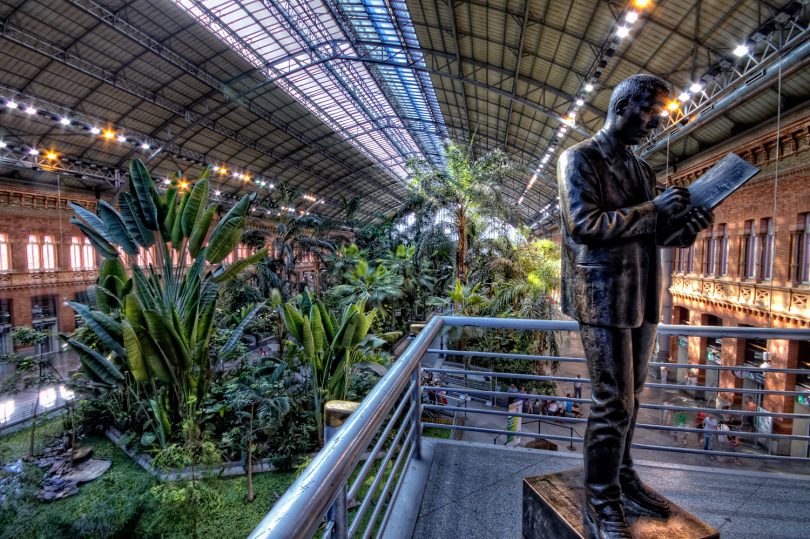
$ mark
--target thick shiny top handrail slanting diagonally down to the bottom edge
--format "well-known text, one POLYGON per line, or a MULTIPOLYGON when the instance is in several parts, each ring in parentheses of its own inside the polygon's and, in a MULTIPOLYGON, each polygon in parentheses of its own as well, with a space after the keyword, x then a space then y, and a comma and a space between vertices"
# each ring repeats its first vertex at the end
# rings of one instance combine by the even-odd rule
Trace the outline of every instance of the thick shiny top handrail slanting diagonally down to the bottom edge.
POLYGON ((359 455, 368 447, 407 387, 411 373, 418 367, 424 351, 439 335, 441 327, 441 317, 428 322, 335 437, 265 515, 250 538, 304 539, 312 536, 338 489, 348 480, 359 455))

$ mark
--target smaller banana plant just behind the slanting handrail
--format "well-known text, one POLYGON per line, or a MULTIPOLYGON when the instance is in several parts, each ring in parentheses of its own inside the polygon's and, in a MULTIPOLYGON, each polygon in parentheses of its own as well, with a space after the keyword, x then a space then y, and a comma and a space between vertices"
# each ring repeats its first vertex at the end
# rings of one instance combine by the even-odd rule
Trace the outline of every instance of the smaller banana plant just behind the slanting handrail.
POLYGON ((358 349, 377 316, 377 309, 365 312, 365 302, 347 305, 340 319, 328 312, 321 301, 312 301, 305 291, 301 310, 293 302, 280 307, 287 334, 298 344, 312 376, 315 421, 323 440, 323 402, 345 400, 349 391, 351 366, 358 360, 358 349))

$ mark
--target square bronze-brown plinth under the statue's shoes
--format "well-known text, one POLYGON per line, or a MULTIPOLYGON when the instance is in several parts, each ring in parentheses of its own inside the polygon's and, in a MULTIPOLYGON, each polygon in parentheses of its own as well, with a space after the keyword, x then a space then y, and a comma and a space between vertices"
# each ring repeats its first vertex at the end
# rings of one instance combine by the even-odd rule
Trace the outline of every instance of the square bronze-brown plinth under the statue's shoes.
MULTIPOLYGON (((589 535, 582 523, 585 507, 583 470, 523 478, 523 537, 583 539, 589 535)), ((684 508, 672 505, 667 520, 628 514, 634 538, 715 539, 716 529, 684 508)))

